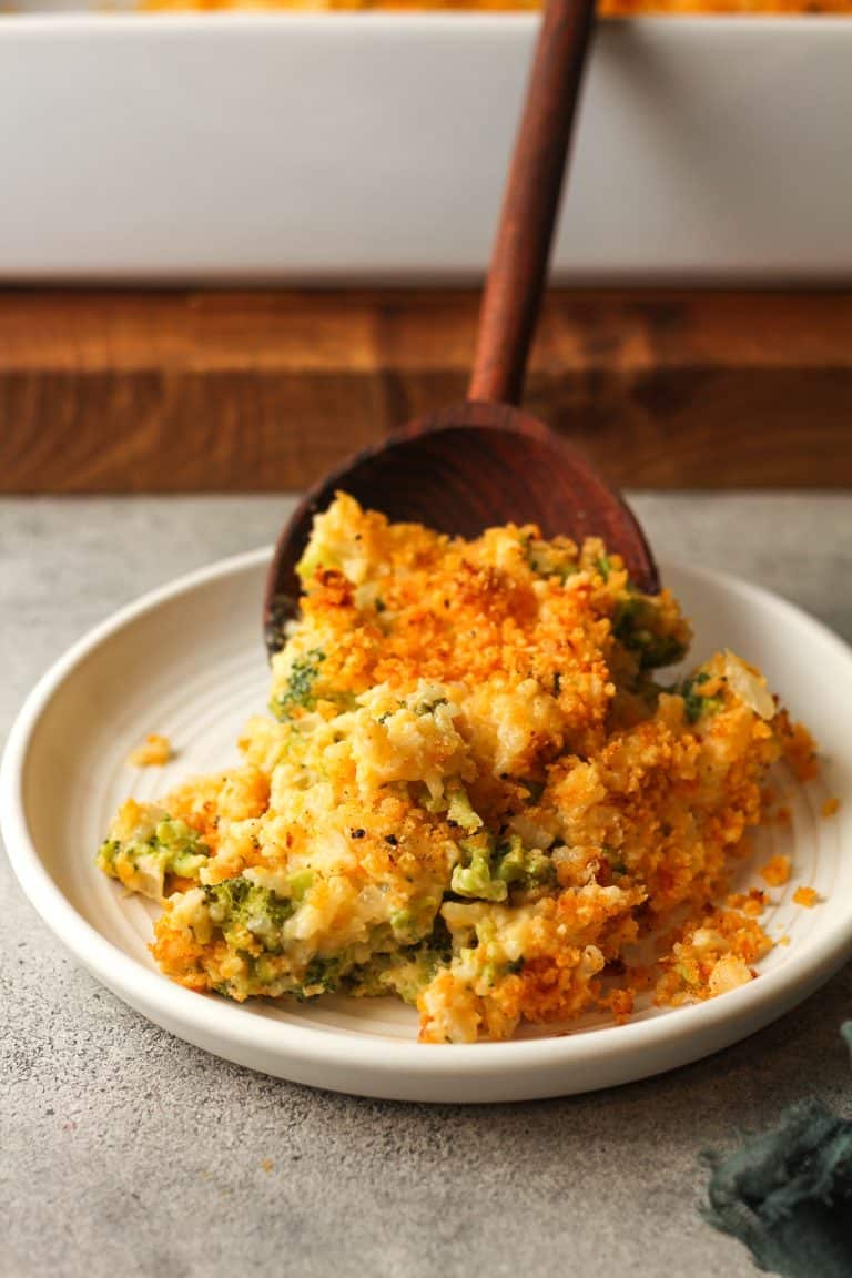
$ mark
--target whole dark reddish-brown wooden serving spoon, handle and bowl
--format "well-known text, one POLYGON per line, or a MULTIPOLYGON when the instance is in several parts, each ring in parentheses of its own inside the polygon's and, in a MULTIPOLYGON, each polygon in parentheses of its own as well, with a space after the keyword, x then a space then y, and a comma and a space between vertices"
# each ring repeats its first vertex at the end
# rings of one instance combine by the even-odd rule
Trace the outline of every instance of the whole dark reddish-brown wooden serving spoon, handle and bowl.
POLYGON ((339 489, 391 520, 475 537, 535 523, 544 537, 602 537, 632 580, 659 589, 636 519, 589 463, 521 413, 526 357, 544 286, 595 0, 548 0, 485 284, 469 397, 355 454, 310 489, 270 567, 266 643, 273 656, 296 615, 310 525, 339 489))

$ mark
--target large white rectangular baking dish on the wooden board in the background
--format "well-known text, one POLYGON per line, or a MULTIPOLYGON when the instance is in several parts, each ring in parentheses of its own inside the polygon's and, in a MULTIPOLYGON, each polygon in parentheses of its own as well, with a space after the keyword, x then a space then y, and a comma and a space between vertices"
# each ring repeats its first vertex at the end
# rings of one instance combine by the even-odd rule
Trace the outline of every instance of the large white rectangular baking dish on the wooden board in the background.
MULTIPOLYGON (((535 26, 0 17, 0 279, 471 279, 535 26)), ((851 120, 852 18, 607 23, 557 276, 852 279, 851 120)))

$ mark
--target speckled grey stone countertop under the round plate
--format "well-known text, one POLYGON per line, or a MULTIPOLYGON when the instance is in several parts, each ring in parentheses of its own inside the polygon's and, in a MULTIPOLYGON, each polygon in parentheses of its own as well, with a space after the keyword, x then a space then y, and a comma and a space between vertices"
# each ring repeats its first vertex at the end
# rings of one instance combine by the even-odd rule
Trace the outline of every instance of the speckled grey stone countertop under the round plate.
MULTIPOLYGON (((662 556, 779 590, 852 640, 852 500, 639 496, 662 556)), ((0 502, 0 731, 133 596, 268 542, 281 498, 0 502)), ((700 1150, 811 1091, 848 1102, 852 967, 673 1074, 484 1108, 360 1100, 227 1065, 82 971, 0 858, 3 1278, 745 1278, 700 1150)))

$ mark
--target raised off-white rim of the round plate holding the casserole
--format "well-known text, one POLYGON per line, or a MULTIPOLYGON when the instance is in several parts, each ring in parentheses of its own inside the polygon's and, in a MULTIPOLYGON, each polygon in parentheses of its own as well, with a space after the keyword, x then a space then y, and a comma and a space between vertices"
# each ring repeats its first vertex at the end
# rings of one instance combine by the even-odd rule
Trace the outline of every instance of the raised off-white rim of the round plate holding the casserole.
MULTIPOLYGON (((337 1035, 327 1026, 247 1016, 239 1005, 231 1005, 225 999, 216 999, 216 1013, 211 1016, 211 1003, 207 997, 174 984, 114 946, 83 919, 59 889, 42 864, 29 833, 23 799, 24 771, 29 744, 42 712, 74 667, 87 659, 105 640, 132 625, 142 613, 188 589, 258 567, 266 564, 270 556, 271 548, 264 547, 188 573, 142 596, 89 630, 38 680, 24 700, 6 743, 0 767, 0 827, 18 881, 36 911, 66 948, 132 1006, 142 1011, 155 1010, 153 1013, 146 1011, 146 1015, 152 1015, 155 1020, 158 1016, 167 1017, 171 1025, 185 1028, 188 1036, 209 1039, 211 1034, 215 1034, 221 1042, 248 1052, 277 1056, 286 1051, 296 1056, 303 1065, 333 1063, 340 1068, 367 1070, 377 1082, 374 1094, 381 1094, 382 1080, 390 1082, 392 1077, 402 1074, 415 1080, 445 1077, 450 1081, 460 1076, 505 1080, 526 1071, 557 1068, 568 1063, 576 1067, 588 1062, 589 1068, 594 1070, 595 1066, 614 1058, 625 1056, 632 1058, 654 1048, 666 1048, 666 1054, 673 1059, 663 1066, 649 1065, 644 1071, 640 1068, 631 1075, 641 1077, 685 1065, 706 1054, 708 1051, 715 1051, 763 1028, 807 997, 852 953, 851 910, 848 919, 841 925, 834 925, 815 939, 809 939, 796 960, 763 973, 759 980, 731 990, 723 997, 672 1008, 658 1017, 628 1021, 625 1025, 499 1043, 442 1047, 424 1045, 414 1039, 376 1040, 365 1036, 361 1040, 353 1034, 337 1035), (723 1025, 724 1039, 719 1035, 715 1047, 709 1049, 696 1047, 690 1053, 683 1045, 683 1040, 696 1035, 697 1031, 701 1031, 700 1036, 705 1039, 714 1028, 723 1025)), ((672 564, 671 567, 677 565, 672 564)), ((795 620, 800 626, 805 624, 823 644, 834 649, 838 658, 849 665, 852 672, 852 648, 801 608, 731 574, 692 566, 685 567, 685 571, 697 580, 723 585, 727 592, 741 598, 759 597, 764 607, 778 617, 779 624, 783 624, 784 619, 795 620)), ((258 607, 258 652, 262 648, 259 627, 258 607)), ((192 1040, 197 1042, 197 1038, 192 1040)), ((594 1088, 595 1082, 591 1080, 588 1090, 594 1088)), ((547 1094, 553 1094, 553 1089, 547 1094)))

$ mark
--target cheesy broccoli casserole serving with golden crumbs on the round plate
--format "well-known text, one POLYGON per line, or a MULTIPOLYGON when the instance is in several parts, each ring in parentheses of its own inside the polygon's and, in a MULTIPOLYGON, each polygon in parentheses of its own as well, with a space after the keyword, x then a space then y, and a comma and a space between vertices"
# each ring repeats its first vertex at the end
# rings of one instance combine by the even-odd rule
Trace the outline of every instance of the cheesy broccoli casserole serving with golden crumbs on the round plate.
POLYGON ((754 979, 761 893, 726 898, 782 755, 812 743, 598 541, 475 541, 345 495, 243 763, 123 805, 97 864, 162 904, 152 951, 243 1001, 395 994, 429 1043, 623 1020, 754 979))

